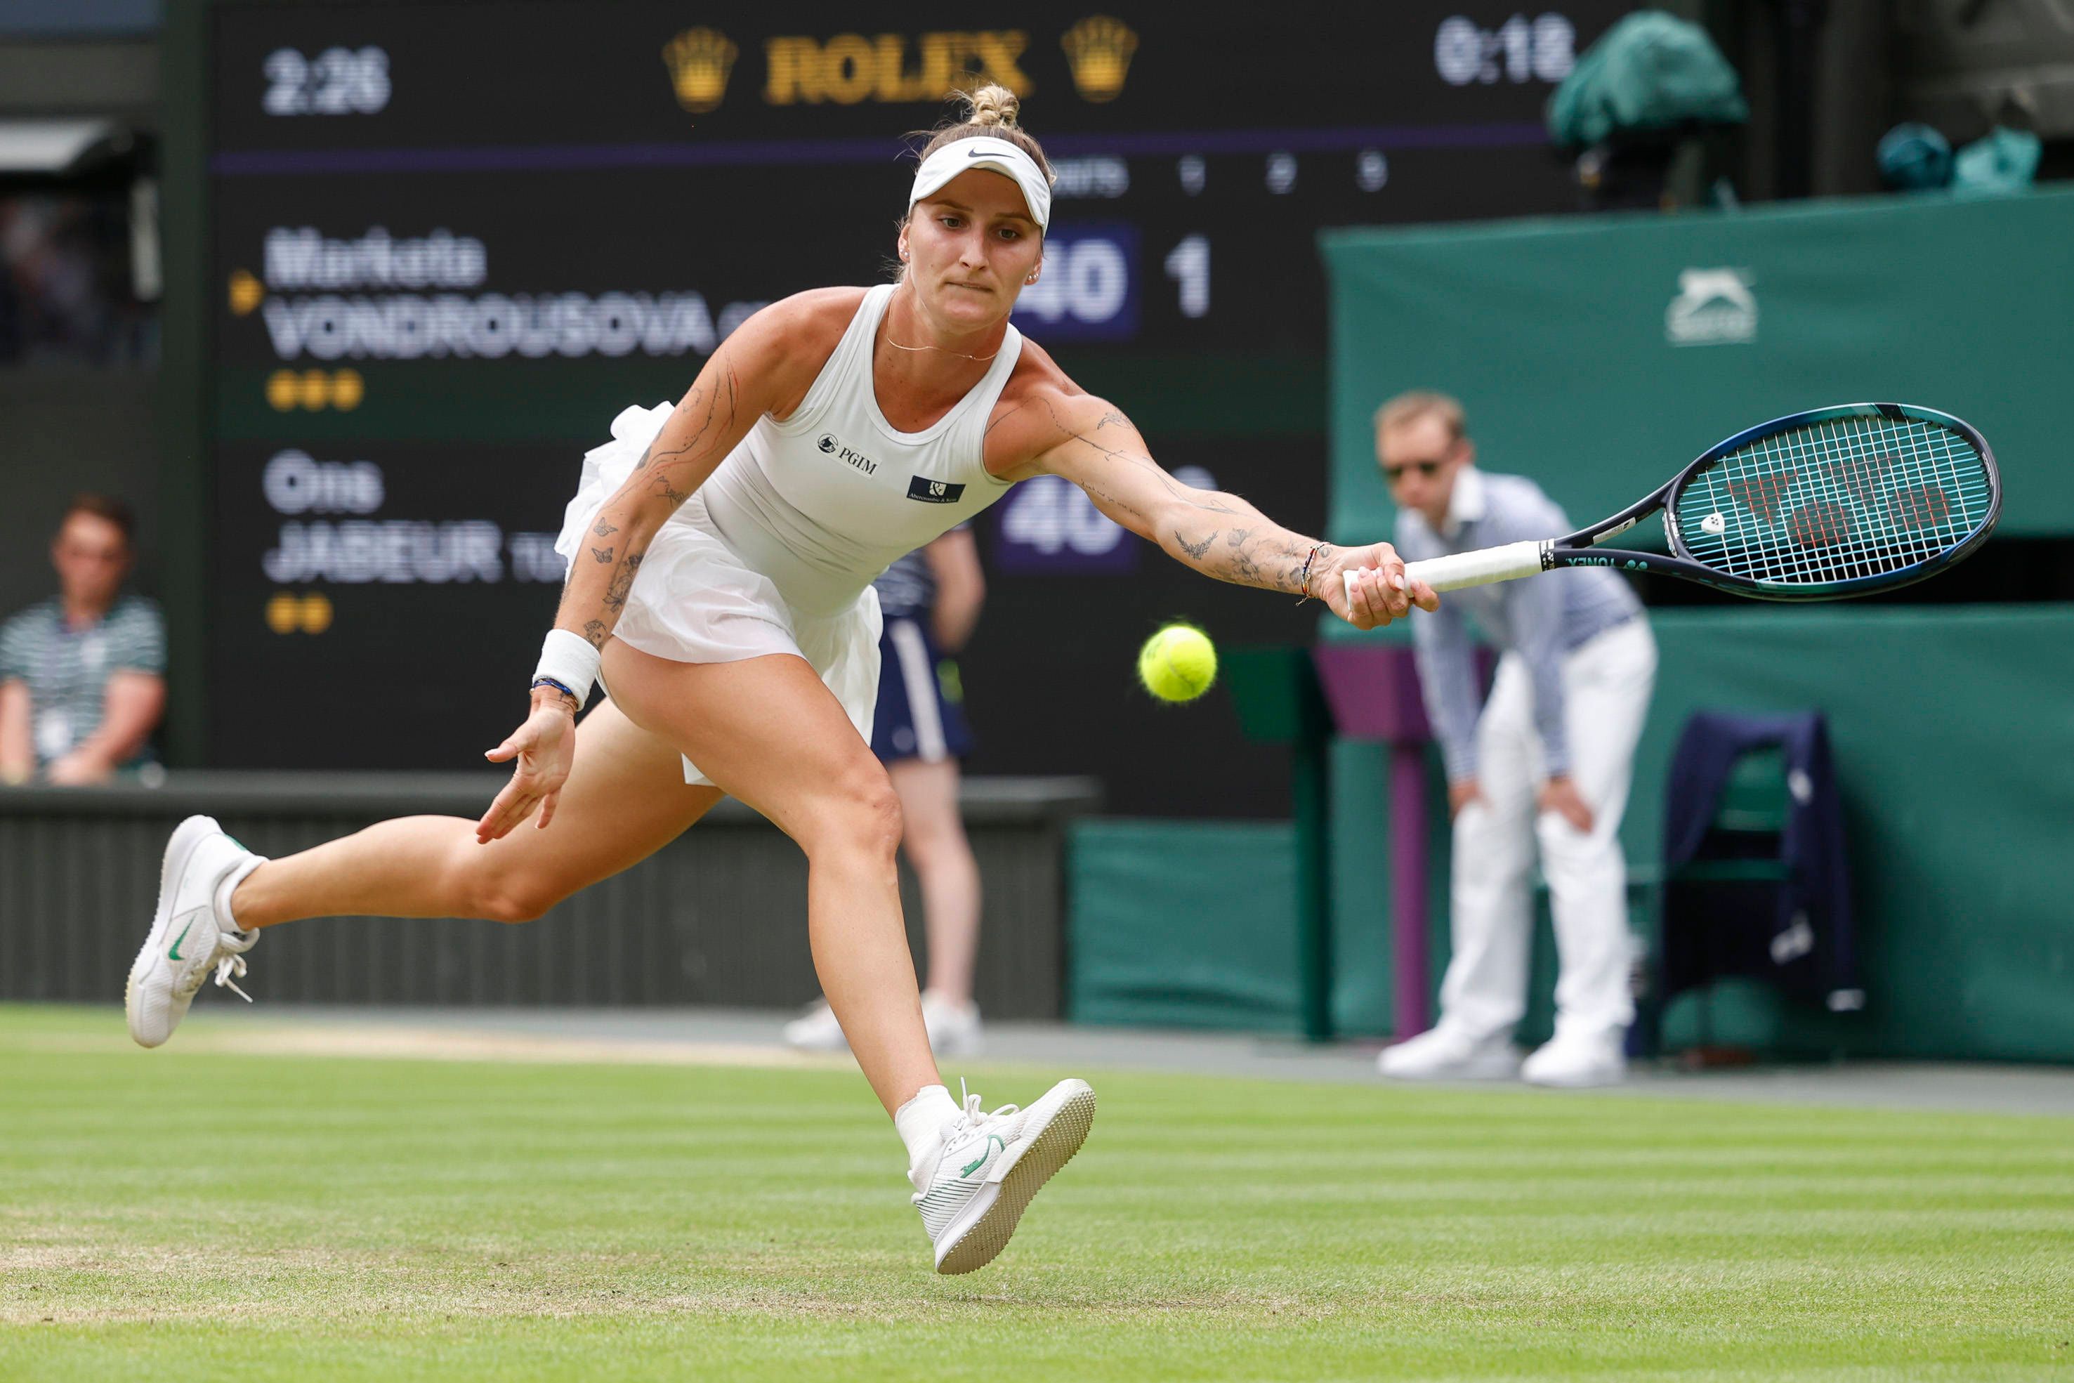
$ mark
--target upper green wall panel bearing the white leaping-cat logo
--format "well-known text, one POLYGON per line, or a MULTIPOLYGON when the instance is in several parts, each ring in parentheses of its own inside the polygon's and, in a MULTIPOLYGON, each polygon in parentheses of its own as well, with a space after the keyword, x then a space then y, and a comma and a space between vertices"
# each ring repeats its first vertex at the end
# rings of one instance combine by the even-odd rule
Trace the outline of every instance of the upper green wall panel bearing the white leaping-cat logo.
POLYGON ((1995 448, 2003 533, 2074 533, 2057 379, 2074 359, 2074 191, 1879 197, 1742 214, 1338 230, 1332 533, 1388 537, 1369 419, 1462 398, 1493 471, 1576 523, 1753 423, 1889 398, 1995 448))

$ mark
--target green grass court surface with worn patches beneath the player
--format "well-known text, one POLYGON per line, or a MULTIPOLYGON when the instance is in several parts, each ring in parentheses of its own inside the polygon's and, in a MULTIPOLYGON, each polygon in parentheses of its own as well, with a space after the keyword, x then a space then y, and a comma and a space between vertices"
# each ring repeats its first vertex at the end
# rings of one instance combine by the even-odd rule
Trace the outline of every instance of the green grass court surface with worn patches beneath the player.
POLYGON ((0 1379, 2074 1371, 2068 1120, 1099 1076, 1008 1252, 935 1277, 852 1072, 120 1024, 0 1008, 0 1379))

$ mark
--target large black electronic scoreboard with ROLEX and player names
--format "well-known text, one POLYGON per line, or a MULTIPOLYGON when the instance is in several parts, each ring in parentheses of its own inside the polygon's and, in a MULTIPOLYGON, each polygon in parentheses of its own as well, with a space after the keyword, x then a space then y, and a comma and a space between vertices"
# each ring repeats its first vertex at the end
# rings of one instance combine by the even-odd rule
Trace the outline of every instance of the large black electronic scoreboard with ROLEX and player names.
MULTIPOLYGON (((583 450, 757 307, 886 278, 904 137, 975 81, 1022 97, 1060 174, 1016 323, 1168 467, 1321 527, 1315 234, 1564 209, 1541 106, 1628 6, 1551 2, 209 4, 212 763, 477 763, 552 620, 583 450)), ((1242 755, 1230 717, 1134 703, 1130 649, 1170 614, 1226 641, 1315 614, 1064 483, 1010 491, 981 547, 981 771, 1182 734, 1242 755), (1108 688, 1097 726, 1047 709, 1066 686, 1108 688)), ((1271 813, 1271 761, 1249 773, 1271 813)))

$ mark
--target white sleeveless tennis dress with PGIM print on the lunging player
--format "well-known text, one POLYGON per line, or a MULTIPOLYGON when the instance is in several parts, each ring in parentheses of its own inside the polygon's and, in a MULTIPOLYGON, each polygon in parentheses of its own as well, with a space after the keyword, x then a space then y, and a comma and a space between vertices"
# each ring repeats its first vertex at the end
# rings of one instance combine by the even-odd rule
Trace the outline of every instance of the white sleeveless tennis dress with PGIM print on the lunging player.
MULTIPOLYGON (((871 583, 1008 491, 987 475, 983 438, 1022 355, 1022 334, 1008 328, 985 377, 950 413, 898 431, 871 386, 871 348, 892 294, 892 284, 867 290, 792 417, 757 419, 664 523, 612 630, 680 664, 796 653, 865 740, 879 688, 871 583)), ((591 535, 597 510, 633 475, 670 408, 626 408, 612 419, 612 442, 585 454, 554 545, 564 560, 589 562, 587 549, 604 545, 591 535)), ((684 759, 684 782, 711 780, 684 759)))

